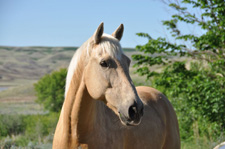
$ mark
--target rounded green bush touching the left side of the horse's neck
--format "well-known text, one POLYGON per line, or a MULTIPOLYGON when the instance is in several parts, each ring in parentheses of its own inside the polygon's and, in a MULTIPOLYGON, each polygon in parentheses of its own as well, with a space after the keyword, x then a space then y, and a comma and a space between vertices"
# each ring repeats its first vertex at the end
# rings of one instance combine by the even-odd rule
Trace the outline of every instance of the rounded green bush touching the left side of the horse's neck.
POLYGON ((64 101, 66 69, 52 72, 42 77, 34 84, 37 102, 46 110, 59 112, 64 101))

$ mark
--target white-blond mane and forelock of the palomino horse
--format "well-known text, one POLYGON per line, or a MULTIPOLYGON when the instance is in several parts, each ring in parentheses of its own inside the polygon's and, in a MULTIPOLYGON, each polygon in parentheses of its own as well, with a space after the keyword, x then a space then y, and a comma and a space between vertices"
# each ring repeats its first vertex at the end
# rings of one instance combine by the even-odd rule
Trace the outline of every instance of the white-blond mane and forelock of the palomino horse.
POLYGON ((86 58, 89 59, 93 50, 95 50, 96 53, 98 52, 108 53, 111 57, 117 58, 118 60, 121 59, 121 55, 123 54, 119 41, 111 35, 103 34, 99 46, 94 46, 92 38, 87 40, 80 48, 77 49, 69 64, 66 77, 65 96, 69 90, 73 74, 77 69, 78 62, 80 61, 82 53, 85 52, 86 58))

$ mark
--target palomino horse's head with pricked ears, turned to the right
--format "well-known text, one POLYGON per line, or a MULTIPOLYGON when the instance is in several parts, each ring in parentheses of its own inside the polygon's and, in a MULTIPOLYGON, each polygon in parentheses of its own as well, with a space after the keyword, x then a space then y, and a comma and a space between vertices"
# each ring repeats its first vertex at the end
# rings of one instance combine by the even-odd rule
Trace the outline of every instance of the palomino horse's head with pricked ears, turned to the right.
POLYGON ((130 59, 119 43, 121 24, 112 35, 103 34, 99 25, 88 45, 84 81, 90 96, 103 101, 126 126, 138 125, 143 116, 143 103, 129 75, 130 59))

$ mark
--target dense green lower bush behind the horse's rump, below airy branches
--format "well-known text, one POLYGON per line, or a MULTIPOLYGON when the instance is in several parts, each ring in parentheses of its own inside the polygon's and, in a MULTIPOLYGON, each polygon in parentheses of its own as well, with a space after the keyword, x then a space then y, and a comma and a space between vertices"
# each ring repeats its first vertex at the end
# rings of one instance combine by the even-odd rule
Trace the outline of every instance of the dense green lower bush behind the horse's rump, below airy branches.
POLYGON ((225 132, 225 79, 198 65, 187 70, 184 62, 176 62, 153 82, 171 99, 184 140, 194 135, 216 140, 225 132))

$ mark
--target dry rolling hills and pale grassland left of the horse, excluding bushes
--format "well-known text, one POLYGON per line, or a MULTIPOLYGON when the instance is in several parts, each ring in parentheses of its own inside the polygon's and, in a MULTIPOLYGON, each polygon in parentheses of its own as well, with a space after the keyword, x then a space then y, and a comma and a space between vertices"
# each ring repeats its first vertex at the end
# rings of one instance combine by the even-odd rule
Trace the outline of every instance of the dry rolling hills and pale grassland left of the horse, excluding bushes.
POLYGON ((33 84, 43 75, 67 67, 76 48, 0 47, 0 114, 38 114, 33 84))

